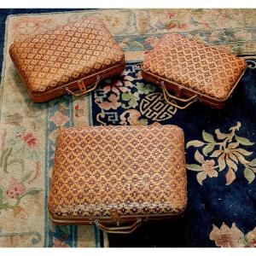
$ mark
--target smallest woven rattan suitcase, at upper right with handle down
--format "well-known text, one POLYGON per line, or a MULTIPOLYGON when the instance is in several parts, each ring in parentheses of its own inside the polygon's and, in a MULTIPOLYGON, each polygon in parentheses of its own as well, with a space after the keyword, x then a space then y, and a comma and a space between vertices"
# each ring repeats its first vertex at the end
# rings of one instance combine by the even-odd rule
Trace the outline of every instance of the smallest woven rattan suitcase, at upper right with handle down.
POLYGON ((196 101, 224 108, 246 67, 235 55, 174 33, 145 55, 142 75, 160 85, 166 102, 176 108, 196 101))

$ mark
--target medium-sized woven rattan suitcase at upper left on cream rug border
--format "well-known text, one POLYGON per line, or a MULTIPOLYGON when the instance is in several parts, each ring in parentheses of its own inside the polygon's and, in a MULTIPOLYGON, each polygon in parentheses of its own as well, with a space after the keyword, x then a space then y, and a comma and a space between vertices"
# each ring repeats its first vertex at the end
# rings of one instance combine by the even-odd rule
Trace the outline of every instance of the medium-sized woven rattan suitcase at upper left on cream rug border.
POLYGON ((107 27, 85 17, 11 44, 9 55, 33 102, 84 95, 122 73, 125 55, 107 27), (79 91, 77 91, 79 90, 79 91))

